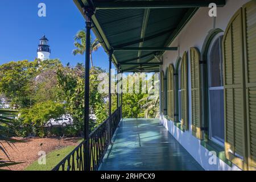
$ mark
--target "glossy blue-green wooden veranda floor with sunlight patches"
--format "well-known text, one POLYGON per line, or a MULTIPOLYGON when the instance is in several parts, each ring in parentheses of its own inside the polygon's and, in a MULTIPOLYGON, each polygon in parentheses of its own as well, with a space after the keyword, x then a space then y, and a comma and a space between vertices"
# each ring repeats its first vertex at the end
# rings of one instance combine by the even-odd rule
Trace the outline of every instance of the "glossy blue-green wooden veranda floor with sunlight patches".
POLYGON ((101 171, 203 170, 159 119, 123 119, 101 171))

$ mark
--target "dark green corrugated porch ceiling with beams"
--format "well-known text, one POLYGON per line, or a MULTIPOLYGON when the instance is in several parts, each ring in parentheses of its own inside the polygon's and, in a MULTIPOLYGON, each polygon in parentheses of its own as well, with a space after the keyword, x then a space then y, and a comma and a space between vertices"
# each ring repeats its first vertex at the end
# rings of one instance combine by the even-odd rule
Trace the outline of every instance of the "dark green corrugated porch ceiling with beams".
POLYGON ((85 6, 96 10, 92 30, 107 53, 114 51, 113 63, 123 72, 158 72, 157 57, 177 51, 168 46, 197 9, 211 2, 225 5, 225 0, 73 1, 83 15, 85 6))

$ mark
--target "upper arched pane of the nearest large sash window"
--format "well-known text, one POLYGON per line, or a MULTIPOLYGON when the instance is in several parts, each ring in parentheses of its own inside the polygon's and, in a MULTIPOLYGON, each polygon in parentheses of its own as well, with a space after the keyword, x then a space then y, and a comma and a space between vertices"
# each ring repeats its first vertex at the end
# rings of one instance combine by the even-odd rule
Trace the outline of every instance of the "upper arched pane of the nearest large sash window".
POLYGON ((222 86, 221 38, 217 39, 209 53, 209 87, 222 86))

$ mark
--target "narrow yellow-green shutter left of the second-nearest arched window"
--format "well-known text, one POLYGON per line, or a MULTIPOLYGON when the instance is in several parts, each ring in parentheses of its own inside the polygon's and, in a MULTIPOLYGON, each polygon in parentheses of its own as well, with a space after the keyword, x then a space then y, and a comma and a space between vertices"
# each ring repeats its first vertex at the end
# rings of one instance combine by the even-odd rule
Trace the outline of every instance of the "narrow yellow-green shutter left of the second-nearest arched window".
POLYGON ((174 65, 170 64, 168 67, 168 117, 174 121, 174 65))

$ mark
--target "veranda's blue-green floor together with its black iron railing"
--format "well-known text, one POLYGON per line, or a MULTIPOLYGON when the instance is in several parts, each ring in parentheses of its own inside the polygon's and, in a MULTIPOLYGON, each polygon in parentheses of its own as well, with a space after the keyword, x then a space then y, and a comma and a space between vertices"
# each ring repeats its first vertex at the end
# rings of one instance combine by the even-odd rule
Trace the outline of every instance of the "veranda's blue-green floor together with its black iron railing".
POLYGON ((53 171, 84 171, 88 164, 90 171, 203 170, 159 125, 159 119, 121 119, 121 107, 89 135, 89 155, 86 143, 79 144, 53 171))

